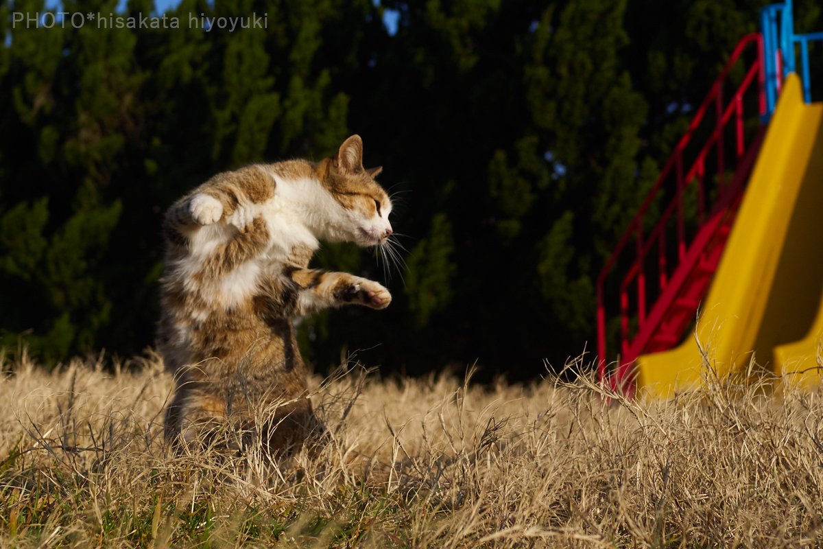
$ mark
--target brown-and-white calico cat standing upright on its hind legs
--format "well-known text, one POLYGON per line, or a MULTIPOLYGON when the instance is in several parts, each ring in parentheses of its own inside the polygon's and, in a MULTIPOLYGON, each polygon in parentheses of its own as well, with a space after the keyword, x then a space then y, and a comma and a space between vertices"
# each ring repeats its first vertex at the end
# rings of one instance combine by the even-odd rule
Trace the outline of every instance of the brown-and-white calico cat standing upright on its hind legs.
POLYGON ((299 444, 314 426, 292 319, 392 300, 375 281, 308 268, 319 240, 388 244, 392 202, 374 180, 381 169, 362 159, 354 135, 317 163, 217 174, 166 212, 158 347, 175 378, 167 440, 193 443, 226 421, 248 429, 276 402, 258 430, 268 449, 299 444))

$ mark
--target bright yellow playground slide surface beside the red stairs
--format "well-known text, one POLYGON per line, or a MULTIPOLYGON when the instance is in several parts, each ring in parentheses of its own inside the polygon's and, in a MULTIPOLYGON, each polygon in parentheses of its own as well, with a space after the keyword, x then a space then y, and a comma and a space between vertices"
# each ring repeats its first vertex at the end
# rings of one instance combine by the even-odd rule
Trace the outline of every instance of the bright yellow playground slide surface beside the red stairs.
MULTIPOLYGON (((806 105, 800 80, 783 84, 695 330, 720 376, 752 353, 775 374, 819 383, 823 333, 823 103, 806 105), (811 328, 810 328, 811 327, 811 328)), ((704 358, 690 334, 680 347, 639 356, 639 393, 669 397, 700 386, 704 358)))

